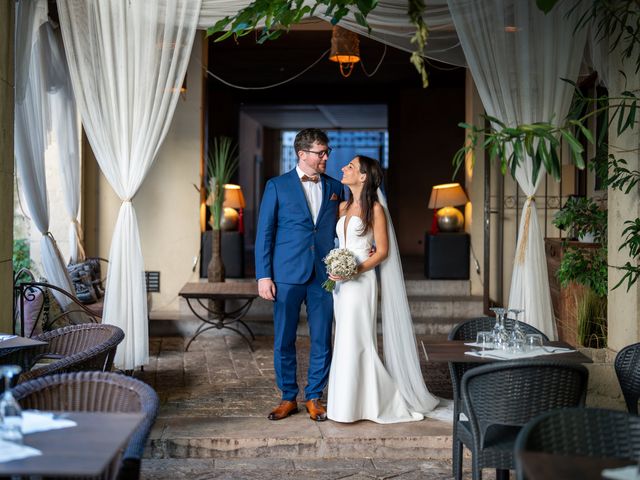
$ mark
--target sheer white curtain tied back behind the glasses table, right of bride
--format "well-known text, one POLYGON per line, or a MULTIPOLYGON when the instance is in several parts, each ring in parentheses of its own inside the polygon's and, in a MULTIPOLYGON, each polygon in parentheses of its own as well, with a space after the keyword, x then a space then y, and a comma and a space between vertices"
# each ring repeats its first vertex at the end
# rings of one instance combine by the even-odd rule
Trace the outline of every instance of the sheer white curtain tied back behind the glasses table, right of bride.
MULTIPOLYGON (((453 21, 485 110, 507 125, 562 122, 583 56, 586 31, 575 31, 579 11, 560 2, 547 15, 535 2, 449 0, 453 21)), ((532 178, 527 158, 516 170, 526 196, 514 259, 510 308, 524 308, 524 319, 556 338, 542 231, 535 193, 544 171, 532 178)))

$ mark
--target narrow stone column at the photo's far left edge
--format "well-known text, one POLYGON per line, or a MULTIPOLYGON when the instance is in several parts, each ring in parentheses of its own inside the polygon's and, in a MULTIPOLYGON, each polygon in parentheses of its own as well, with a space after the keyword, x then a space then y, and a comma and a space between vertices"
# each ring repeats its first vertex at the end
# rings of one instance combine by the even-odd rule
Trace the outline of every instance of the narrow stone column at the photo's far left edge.
POLYGON ((0 0, 0 332, 12 330, 15 0, 0 0))

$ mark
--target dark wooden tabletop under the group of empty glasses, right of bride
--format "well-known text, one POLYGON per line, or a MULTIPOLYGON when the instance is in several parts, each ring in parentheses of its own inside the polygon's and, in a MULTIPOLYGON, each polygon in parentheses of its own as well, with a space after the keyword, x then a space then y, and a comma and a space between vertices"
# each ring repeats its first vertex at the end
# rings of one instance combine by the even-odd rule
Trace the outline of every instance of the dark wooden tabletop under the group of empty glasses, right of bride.
MULTIPOLYGON (((431 362, 455 362, 455 363, 491 363, 505 360, 497 360, 489 357, 476 357, 474 355, 465 355, 464 352, 471 350, 479 351, 480 348, 465 345, 471 343, 469 340, 449 340, 440 343, 425 343, 424 348, 427 357, 431 362)), ((572 348, 564 342, 547 342, 545 346, 572 348)), ((569 353, 556 353, 549 355, 540 355, 539 357, 527 357, 527 360, 563 360, 572 363, 593 363, 592 360, 584 353, 575 351, 569 353)))

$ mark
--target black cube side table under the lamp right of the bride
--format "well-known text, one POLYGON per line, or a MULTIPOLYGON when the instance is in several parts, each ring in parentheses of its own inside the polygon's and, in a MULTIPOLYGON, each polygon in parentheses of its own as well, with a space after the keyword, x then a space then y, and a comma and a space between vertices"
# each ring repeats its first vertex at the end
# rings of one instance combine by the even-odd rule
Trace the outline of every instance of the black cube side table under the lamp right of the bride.
POLYGON ((467 233, 425 234, 424 276, 431 279, 468 280, 469 246, 467 233))

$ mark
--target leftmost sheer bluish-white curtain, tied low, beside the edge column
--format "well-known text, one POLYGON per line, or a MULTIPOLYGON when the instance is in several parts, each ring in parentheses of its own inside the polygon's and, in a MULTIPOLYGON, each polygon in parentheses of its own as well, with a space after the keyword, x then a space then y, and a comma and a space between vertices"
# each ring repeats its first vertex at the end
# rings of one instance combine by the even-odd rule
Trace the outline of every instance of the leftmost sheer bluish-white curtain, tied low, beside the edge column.
MULTIPOLYGON (((47 280, 68 292, 73 284, 49 232, 45 150, 50 128, 48 81, 53 76, 47 41, 46 2, 19 2, 16 31, 15 156, 27 208, 40 233, 42 266, 47 280)), ((68 297, 54 291, 63 309, 68 297)))

